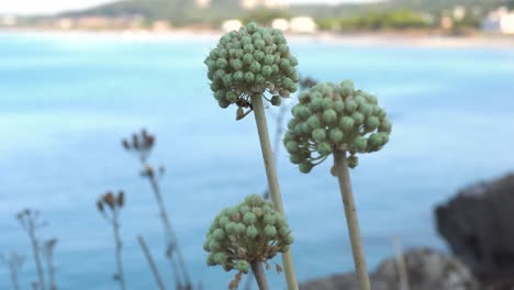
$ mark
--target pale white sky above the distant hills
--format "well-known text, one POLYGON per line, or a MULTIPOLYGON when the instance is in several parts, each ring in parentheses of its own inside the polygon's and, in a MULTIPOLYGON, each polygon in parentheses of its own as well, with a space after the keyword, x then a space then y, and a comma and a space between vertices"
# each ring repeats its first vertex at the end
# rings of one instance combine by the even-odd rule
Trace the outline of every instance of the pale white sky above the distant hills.
MULTIPOLYGON (((81 9, 114 0, 0 0, 0 13, 55 13, 63 10, 81 9)), ((282 0, 283 1, 283 0, 282 0)), ((373 0, 289 0, 293 3, 370 2, 373 0)), ((375 0, 376 1, 376 0, 375 0)))

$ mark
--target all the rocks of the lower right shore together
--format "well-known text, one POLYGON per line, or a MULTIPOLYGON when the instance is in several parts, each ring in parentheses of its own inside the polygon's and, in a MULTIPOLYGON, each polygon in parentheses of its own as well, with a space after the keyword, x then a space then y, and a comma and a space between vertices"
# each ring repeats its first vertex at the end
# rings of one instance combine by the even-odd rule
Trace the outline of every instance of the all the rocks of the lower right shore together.
MULTIPOLYGON (((514 174, 468 187, 435 209, 452 255, 414 248, 370 274, 373 290, 514 290, 514 174)), ((309 281, 302 290, 358 290, 355 274, 309 281)))

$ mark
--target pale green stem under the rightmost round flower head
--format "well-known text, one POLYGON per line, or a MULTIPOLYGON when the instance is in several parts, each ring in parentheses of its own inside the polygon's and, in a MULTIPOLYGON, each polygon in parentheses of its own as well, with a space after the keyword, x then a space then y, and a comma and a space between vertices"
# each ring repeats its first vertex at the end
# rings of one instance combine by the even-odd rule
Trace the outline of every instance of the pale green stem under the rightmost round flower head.
POLYGON ((337 178, 345 208, 346 224, 348 225, 351 253, 354 255, 357 279, 359 280, 359 289, 370 290, 366 257, 364 254, 362 242, 360 241, 359 221, 357 219, 354 194, 351 193, 351 181, 348 172, 348 163, 346 160, 346 150, 334 150, 334 161, 337 168, 337 178))

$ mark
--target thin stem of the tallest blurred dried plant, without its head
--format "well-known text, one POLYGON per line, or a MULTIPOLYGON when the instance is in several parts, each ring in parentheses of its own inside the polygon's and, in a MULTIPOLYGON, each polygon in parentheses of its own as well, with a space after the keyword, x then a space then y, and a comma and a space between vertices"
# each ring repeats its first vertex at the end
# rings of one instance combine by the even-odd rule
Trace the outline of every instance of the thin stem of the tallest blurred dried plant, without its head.
MULTIPOLYGON (((145 168, 149 168, 148 165, 145 165, 145 168)), ((155 179, 153 175, 148 175, 148 180, 150 181, 152 189, 154 190, 154 193, 155 193, 155 199, 157 200, 157 205, 159 207, 159 214, 163 221, 163 225, 165 227, 165 231, 167 232, 167 246, 168 246, 167 252, 174 250, 177 253, 180 269, 182 270, 183 279, 186 282, 186 289, 187 290, 192 289, 191 279, 189 278, 189 272, 186 267, 186 260, 182 256, 182 252, 179 248, 177 236, 175 235, 174 227, 171 226, 171 222, 169 221, 168 213, 164 205, 163 196, 160 194, 160 189, 157 183, 157 180, 155 179)), ((171 253, 169 253, 169 255, 171 255, 171 253)), ((180 281, 177 281, 177 282, 180 285, 180 281)))

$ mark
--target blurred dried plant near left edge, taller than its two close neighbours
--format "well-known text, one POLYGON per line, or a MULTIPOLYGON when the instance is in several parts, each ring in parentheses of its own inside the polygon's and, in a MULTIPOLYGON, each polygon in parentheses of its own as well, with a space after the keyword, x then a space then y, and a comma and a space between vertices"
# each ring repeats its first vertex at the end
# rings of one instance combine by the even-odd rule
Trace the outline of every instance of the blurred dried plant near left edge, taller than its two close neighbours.
POLYGON ((37 282, 33 282, 35 289, 45 290, 45 275, 41 263, 41 245, 36 236, 36 230, 46 225, 41 221, 41 214, 37 210, 25 209, 16 214, 16 220, 20 222, 23 230, 29 234, 31 239, 32 252, 37 270, 37 282))

